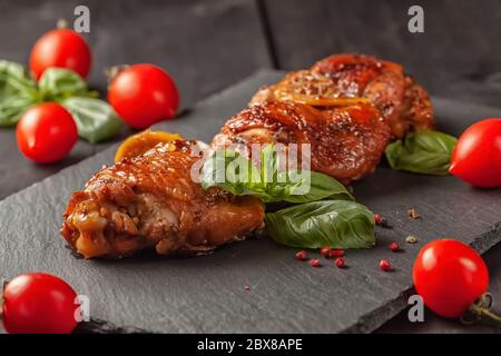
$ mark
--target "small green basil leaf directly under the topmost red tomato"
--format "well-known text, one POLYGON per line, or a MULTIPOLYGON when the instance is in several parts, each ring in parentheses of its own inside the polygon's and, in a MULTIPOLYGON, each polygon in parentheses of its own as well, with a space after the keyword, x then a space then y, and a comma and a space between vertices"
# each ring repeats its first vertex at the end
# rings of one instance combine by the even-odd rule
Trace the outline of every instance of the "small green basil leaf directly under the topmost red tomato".
POLYGON ((46 101, 88 93, 86 81, 75 71, 62 68, 49 68, 38 81, 40 93, 46 101))

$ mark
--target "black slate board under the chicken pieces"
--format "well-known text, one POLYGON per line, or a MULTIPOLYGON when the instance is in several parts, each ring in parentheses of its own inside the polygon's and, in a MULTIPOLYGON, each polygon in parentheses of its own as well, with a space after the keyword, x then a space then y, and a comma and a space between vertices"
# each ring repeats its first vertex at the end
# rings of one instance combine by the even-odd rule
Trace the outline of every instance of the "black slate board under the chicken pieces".
MULTIPOLYGON (((262 83, 281 76, 258 72, 158 128, 209 141, 262 83)), ((500 113, 443 99, 434 105, 442 128, 452 134, 500 113)), ((267 239, 234 244, 198 258, 145 253, 119 261, 77 259, 58 234, 61 212, 71 191, 111 162, 114 151, 115 147, 97 154, 0 202, 2 277, 43 270, 65 278, 89 296, 94 319, 110 323, 82 326, 96 332, 371 332, 405 307, 412 261, 426 240, 456 237, 485 251, 501 239, 501 225, 495 225, 500 189, 472 189, 453 177, 396 172, 382 165, 354 185, 355 196, 387 216, 394 228, 377 229, 375 248, 350 250, 347 269, 332 263, 311 268, 294 259, 294 249, 267 239), (410 207, 423 218, 411 220, 410 207), (405 245, 409 234, 419 243, 405 245), (389 251, 391 240, 400 241, 404 251, 389 251), (390 258, 395 270, 380 271, 381 258, 390 258)))

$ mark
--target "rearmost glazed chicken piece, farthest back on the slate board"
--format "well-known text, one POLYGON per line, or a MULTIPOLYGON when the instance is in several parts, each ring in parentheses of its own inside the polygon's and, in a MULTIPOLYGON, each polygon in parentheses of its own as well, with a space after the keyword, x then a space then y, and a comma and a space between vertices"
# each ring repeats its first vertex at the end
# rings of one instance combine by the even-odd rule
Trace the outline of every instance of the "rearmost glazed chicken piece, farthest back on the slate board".
POLYGON ((410 129, 433 128, 433 109, 426 91, 394 62, 363 55, 334 55, 308 70, 289 72, 262 88, 250 106, 294 101, 317 108, 370 102, 381 110, 396 138, 410 129))

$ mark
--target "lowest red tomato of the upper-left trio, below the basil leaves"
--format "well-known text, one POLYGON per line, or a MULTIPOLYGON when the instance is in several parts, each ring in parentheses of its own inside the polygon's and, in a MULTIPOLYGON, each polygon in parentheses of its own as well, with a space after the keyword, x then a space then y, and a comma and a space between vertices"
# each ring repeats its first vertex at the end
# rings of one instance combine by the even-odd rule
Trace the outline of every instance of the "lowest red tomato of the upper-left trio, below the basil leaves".
POLYGON ((43 102, 26 111, 18 123, 16 136, 21 152, 40 164, 68 156, 78 140, 73 118, 55 102, 43 102))

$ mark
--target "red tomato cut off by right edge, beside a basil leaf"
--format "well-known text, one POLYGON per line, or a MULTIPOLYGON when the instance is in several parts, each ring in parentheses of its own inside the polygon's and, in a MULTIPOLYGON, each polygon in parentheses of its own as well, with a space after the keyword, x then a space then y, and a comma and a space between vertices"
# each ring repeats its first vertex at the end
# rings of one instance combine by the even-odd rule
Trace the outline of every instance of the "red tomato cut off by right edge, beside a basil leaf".
POLYGON ((449 171, 477 187, 501 187, 501 119, 470 126, 455 145, 449 171))

